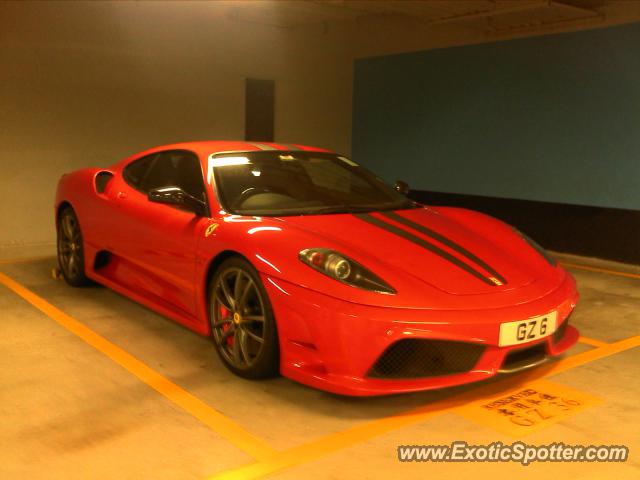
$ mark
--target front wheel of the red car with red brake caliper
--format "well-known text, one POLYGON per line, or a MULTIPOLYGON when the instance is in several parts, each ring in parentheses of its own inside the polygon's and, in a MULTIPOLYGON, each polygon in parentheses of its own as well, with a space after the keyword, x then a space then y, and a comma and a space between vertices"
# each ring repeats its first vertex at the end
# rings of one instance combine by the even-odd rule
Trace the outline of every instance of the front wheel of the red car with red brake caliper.
POLYGON ((222 363, 240 377, 277 376, 278 333, 258 272, 240 257, 218 267, 209 284, 211 336, 222 363))

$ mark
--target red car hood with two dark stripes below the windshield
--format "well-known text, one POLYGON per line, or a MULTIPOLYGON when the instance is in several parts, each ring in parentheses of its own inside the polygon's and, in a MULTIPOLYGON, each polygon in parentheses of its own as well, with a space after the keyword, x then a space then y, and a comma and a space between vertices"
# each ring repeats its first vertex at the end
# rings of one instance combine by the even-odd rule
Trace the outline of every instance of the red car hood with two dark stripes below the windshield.
POLYGON ((313 234, 317 245, 309 247, 335 248, 390 283, 391 274, 404 274, 447 294, 494 295, 552 276, 555 269, 507 225, 471 211, 460 215, 452 209, 457 215, 447 215, 446 210, 280 220, 313 234))

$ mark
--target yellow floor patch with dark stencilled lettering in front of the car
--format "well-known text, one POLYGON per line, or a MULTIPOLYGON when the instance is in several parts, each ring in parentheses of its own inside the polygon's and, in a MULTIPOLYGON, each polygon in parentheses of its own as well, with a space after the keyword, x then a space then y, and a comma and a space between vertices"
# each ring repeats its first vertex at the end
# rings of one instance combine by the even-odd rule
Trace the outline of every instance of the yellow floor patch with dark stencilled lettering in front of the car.
POLYGON ((457 408, 456 413, 512 437, 521 437, 601 402, 591 394, 538 380, 489 401, 469 402, 457 408))

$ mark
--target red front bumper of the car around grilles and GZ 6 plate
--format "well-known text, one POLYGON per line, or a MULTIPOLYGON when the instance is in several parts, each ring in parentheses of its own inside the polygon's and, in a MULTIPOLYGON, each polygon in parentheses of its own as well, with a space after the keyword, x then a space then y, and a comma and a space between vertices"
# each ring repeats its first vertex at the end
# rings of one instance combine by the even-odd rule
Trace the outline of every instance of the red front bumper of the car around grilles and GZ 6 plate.
MULTIPOLYGON (((508 368, 507 356, 530 348, 560 355, 578 340, 565 323, 578 300, 575 282, 564 282, 543 298, 508 308, 428 310, 355 304, 263 275, 277 319, 280 371, 305 385, 342 395, 386 395, 475 382, 508 368), (556 331, 530 343, 498 346, 500 324, 558 312, 556 331), (376 378, 372 368, 393 344, 406 339, 444 340, 481 346, 468 370, 420 378, 376 378), (532 348, 536 347, 536 348, 532 348)), ((531 362, 534 366, 536 362, 531 362)), ((537 362, 539 363, 539 362, 537 362)), ((522 368, 526 368, 526 362, 522 368)))

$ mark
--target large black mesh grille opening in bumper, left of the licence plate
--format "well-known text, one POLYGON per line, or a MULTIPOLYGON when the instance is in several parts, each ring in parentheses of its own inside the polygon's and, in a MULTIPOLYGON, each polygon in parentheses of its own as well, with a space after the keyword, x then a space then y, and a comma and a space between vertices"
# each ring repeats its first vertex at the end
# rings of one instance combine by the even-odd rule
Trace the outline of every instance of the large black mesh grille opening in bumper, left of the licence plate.
POLYGON ((466 342, 408 338, 389 346, 369 370, 372 378, 424 378, 464 373, 485 347, 466 342))

